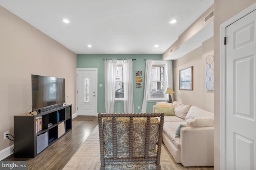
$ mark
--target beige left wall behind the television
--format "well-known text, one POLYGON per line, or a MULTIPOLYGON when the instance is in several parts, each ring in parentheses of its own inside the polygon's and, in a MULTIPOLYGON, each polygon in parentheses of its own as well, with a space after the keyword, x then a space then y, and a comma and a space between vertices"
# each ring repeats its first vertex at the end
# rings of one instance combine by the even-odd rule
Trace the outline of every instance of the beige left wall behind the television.
MULTIPOLYGON (((32 105, 31 74, 66 78, 66 103, 75 113, 76 54, 2 6, 0 23, 1 136, 5 131, 14 135, 14 115, 32 105)), ((1 137, 0 151, 12 144, 1 137)))

